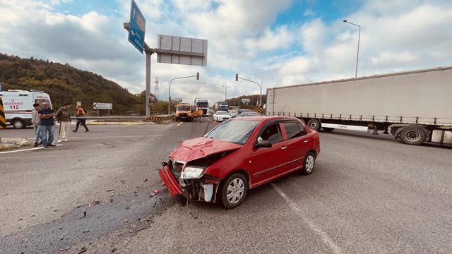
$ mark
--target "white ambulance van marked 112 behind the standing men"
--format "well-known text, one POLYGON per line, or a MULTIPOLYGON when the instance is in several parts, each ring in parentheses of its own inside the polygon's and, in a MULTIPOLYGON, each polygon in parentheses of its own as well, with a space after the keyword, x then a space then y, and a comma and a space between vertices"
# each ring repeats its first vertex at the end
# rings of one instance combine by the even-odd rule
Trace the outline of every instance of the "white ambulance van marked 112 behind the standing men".
POLYGON ((52 107, 50 96, 39 90, 0 91, 0 97, 3 100, 6 125, 12 125, 13 128, 25 128, 32 125, 31 111, 34 109, 33 104, 41 105, 42 102, 47 102, 52 107))

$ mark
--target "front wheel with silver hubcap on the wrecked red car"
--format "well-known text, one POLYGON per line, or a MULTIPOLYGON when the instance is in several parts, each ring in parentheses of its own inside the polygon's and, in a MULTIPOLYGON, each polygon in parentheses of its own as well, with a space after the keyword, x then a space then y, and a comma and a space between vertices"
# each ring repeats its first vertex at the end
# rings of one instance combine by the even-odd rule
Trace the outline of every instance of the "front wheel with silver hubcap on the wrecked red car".
POLYGON ((227 209, 239 206, 246 197, 248 181, 243 174, 235 173, 220 186, 220 199, 227 209))

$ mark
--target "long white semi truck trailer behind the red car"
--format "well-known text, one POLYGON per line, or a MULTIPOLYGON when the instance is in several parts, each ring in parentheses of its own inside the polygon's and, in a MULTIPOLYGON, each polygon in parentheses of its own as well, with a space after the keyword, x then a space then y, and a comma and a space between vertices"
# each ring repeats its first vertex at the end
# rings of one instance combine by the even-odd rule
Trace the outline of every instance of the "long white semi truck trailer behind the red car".
POLYGON ((267 89, 267 115, 318 131, 391 133, 409 145, 452 144, 452 66, 267 89))

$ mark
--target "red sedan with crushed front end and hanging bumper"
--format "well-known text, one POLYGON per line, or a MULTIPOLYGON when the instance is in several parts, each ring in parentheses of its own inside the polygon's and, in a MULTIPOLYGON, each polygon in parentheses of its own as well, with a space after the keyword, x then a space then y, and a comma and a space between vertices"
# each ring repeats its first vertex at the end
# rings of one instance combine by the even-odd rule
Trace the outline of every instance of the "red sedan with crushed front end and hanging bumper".
POLYGON ((159 174, 173 197, 233 208, 250 188, 292 171, 311 174, 319 152, 319 133, 295 117, 242 117, 182 142, 159 174))

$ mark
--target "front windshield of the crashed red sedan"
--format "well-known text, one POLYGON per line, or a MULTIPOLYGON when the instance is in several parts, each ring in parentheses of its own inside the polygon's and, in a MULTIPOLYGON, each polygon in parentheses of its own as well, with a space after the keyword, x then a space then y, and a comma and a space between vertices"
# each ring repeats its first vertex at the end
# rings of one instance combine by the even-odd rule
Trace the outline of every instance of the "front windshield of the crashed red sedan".
POLYGON ((229 120, 204 135, 205 138, 244 145, 259 121, 229 120))

